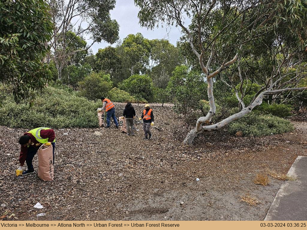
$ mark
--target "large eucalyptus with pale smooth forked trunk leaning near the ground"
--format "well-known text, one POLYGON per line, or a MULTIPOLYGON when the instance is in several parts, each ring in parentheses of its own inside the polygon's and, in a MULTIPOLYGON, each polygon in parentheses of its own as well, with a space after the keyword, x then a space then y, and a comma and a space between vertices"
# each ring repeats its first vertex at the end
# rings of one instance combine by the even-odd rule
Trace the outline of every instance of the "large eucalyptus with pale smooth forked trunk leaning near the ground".
MULTIPOLYGON (((272 71, 270 83, 255 94, 249 105, 243 106, 241 111, 216 124, 210 124, 216 113, 213 79, 226 68, 237 64, 249 44, 258 42, 261 46, 262 38, 275 31, 279 25, 288 23, 290 28, 286 31, 287 36, 301 36, 303 40, 303 44, 300 44, 298 53, 295 52, 295 55, 302 53, 306 45, 302 37, 306 34, 304 33, 304 20, 307 16, 306 0, 135 0, 134 2, 140 7, 138 17, 142 26, 153 29, 159 23, 164 23, 182 28, 185 39, 198 59, 208 83, 210 110, 206 116, 197 120, 196 127, 187 134, 184 143, 192 144, 198 134, 220 129, 231 121, 250 113, 255 106, 262 103, 265 95, 307 88, 293 86, 292 78, 279 84, 285 79, 280 75, 280 70, 286 63, 282 61, 281 65, 277 64, 278 68, 272 71), (191 22, 190 25, 186 25, 186 18, 191 22), (280 87, 276 87, 277 85, 280 87)), ((280 52, 282 50, 282 47, 279 48, 280 52)), ((285 57, 284 60, 287 59, 288 57, 285 57)), ((297 76, 293 76, 295 80, 297 76)))

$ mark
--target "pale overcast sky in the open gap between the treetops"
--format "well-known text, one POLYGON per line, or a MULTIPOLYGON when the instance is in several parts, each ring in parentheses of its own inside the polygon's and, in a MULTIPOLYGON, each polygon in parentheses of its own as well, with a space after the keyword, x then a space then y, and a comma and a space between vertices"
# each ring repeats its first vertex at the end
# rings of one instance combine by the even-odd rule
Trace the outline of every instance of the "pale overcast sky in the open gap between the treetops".
MULTIPOLYGON (((119 23, 119 37, 123 40, 128 34, 142 33, 145 38, 148 39, 167 39, 170 43, 176 45, 177 40, 181 36, 181 31, 173 26, 172 28, 161 28, 148 30, 143 28, 138 23, 138 11, 139 8, 134 5, 134 0, 116 0, 116 6, 112 10, 111 18, 116 19, 119 23)), ((91 44, 91 40, 87 41, 87 44, 91 44)), ((105 48, 108 46, 107 42, 95 43, 91 49, 93 53, 97 53, 99 48, 105 48)))

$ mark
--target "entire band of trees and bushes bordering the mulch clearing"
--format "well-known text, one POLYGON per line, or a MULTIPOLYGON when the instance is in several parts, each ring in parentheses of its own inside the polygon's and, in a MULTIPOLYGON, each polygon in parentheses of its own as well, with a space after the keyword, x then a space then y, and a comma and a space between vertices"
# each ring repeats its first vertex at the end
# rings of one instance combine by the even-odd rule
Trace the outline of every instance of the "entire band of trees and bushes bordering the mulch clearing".
MULTIPOLYGON (((110 17, 115 0, 4 0, 0 121, 16 124, 7 117, 25 108, 20 103, 38 106, 35 97, 43 100, 52 87, 65 95, 62 101, 54 98, 61 114, 49 111, 61 127, 77 110, 66 107, 72 95, 91 108, 101 96, 115 102, 173 102, 187 125, 195 126, 189 144, 199 133, 225 125, 242 135, 289 131, 289 122, 278 117, 307 103, 306 1, 135 0, 142 26, 181 27, 183 36, 174 46, 141 33, 119 40, 119 25, 110 17), (91 46, 102 40, 114 45, 93 54, 91 46)), ((95 123, 77 117, 76 126, 95 123)))

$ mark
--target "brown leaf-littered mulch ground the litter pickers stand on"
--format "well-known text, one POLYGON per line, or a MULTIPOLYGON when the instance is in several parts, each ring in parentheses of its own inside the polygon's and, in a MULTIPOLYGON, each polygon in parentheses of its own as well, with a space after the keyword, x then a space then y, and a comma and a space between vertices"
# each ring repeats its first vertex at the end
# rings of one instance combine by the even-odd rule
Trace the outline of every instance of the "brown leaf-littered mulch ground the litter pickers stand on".
MULTIPOLYGON (((141 106, 135 109, 141 114, 141 106)), ((15 176, 18 138, 27 130, 0 127, 0 219, 263 220, 282 181, 256 185, 255 175, 286 173, 297 155, 306 155, 305 121, 293 121, 292 133, 251 138, 220 131, 185 146, 191 127, 170 106, 153 111, 162 131, 152 129, 152 140, 142 140, 141 125, 136 136, 115 128, 55 130, 52 182, 37 173, 15 176), (256 206, 241 201, 247 193, 256 206), (33 208, 37 202, 45 208, 33 208)))

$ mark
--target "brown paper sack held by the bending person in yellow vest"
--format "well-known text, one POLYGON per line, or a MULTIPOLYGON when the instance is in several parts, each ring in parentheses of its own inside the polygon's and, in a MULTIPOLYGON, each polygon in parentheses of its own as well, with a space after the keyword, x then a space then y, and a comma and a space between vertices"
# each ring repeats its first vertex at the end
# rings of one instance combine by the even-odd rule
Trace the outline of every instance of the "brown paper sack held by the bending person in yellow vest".
POLYGON ((53 147, 41 145, 38 149, 38 177, 43 181, 53 180, 53 147))

